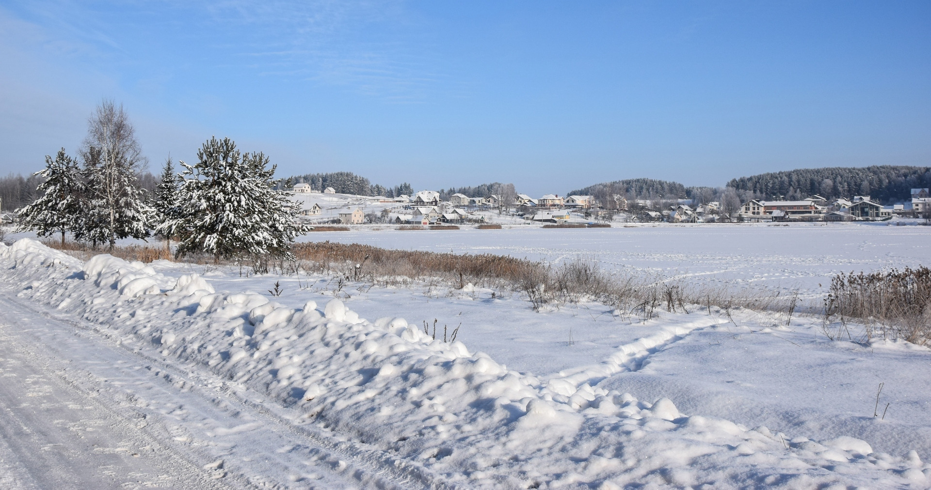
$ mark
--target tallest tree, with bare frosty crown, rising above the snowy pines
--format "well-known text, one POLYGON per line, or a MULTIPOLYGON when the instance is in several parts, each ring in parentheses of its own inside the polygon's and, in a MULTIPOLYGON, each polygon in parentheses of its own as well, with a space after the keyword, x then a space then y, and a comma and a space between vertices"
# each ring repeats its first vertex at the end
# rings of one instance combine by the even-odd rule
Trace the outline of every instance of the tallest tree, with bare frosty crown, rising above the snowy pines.
POLYGON ((122 105, 104 100, 97 106, 81 156, 86 192, 75 238, 113 248, 118 238, 149 236, 152 208, 137 178, 146 160, 122 105))

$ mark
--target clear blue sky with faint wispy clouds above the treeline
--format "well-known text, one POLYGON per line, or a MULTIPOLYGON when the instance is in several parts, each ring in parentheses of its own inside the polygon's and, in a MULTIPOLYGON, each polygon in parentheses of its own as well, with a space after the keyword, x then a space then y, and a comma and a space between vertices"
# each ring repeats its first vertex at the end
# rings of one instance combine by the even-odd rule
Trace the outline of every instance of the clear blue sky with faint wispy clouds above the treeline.
POLYGON ((211 135, 278 175, 567 192, 931 165, 931 2, 0 0, 0 172, 122 102, 153 170, 211 135))

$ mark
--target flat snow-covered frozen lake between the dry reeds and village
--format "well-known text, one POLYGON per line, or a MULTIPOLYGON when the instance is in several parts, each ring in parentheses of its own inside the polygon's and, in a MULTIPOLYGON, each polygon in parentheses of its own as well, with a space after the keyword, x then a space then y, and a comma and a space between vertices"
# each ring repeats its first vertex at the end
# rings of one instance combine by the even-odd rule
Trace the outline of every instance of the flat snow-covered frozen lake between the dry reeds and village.
POLYGON ((533 260, 598 260, 719 285, 762 285, 823 294, 834 274, 931 261, 931 227, 885 223, 646 225, 591 229, 311 232, 305 241, 533 260))

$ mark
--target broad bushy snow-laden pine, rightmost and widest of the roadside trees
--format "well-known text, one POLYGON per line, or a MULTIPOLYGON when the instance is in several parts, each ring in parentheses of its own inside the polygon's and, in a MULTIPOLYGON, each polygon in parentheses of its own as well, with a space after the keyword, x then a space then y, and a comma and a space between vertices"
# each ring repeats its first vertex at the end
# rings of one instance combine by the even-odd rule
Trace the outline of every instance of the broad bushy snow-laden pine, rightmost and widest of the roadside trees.
POLYGON ((178 215, 156 233, 175 231, 177 256, 208 253, 220 258, 270 255, 293 258, 290 244, 307 227, 300 205, 275 190, 275 166, 263 153, 242 154, 229 138, 211 138, 197 151, 197 164, 184 162, 178 215))

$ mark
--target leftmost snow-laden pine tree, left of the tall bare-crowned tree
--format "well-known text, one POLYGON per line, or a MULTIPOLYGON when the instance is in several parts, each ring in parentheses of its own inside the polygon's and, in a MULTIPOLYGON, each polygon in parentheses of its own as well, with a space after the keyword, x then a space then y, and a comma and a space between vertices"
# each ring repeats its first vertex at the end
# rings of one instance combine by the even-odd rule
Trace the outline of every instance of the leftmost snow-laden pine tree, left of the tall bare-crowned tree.
POLYGON ((46 155, 46 167, 34 175, 44 179, 36 188, 42 195, 20 208, 20 228, 34 230, 39 236, 61 232, 63 248, 64 233, 74 228, 80 214, 81 182, 77 164, 62 148, 55 160, 46 155))

